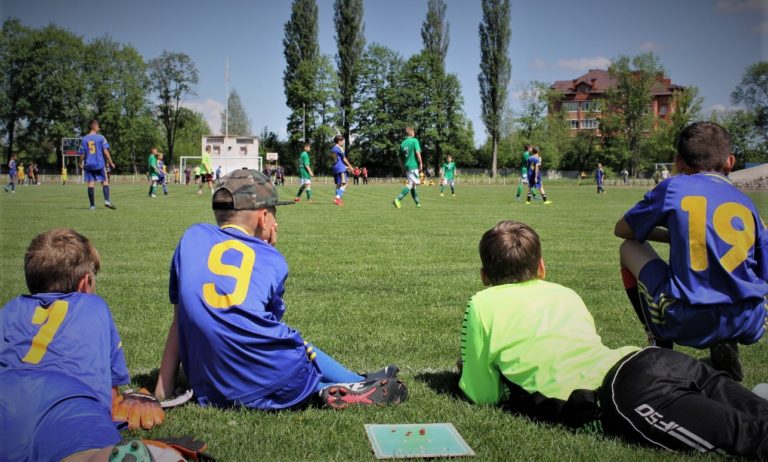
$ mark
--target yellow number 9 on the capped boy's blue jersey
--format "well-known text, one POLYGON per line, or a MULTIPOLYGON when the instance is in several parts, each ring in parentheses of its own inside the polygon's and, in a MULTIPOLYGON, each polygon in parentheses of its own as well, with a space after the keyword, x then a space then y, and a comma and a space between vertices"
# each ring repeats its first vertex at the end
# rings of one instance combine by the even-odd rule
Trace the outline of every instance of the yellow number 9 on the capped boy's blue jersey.
POLYGON ((235 288, 231 293, 219 294, 216 284, 203 284, 203 299, 213 308, 229 308, 239 305, 248 296, 248 285, 251 282, 253 264, 256 262, 256 252, 240 241, 229 240, 213 246, 208 254, 208 269, 219 276, 231 277, 235 280, 235 288), (228 265, 222 261, 227 250, 239 252, 242 255, 240 265, 228 265))

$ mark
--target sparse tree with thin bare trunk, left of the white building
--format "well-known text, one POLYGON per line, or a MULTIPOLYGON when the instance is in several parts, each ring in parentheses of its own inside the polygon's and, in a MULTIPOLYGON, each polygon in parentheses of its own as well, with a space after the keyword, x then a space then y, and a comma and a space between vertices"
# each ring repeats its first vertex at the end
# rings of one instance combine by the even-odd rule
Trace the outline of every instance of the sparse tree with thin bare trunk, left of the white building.
POLYGON ((149 86, 157 95, 160 122, 165 128, 168 148, 166 162, 173 163, 176 135, 180 126, 181 107, 187 96, 194 95, 198 82, 197 66, 184 53, 163 51, 149 62, 149 86))

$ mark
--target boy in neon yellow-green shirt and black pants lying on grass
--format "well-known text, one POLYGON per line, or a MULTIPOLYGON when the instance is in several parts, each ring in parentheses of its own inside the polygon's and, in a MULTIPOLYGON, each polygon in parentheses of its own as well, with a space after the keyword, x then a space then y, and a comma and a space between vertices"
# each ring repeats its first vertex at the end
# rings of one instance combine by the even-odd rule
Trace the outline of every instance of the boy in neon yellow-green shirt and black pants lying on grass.
POLYGON ((683 353, 608 348, 571 289, 546 282, 541 242, 503 221, 480 241, 459 386, 476 404, 671 451, 768 460, 768 401, 683 353))

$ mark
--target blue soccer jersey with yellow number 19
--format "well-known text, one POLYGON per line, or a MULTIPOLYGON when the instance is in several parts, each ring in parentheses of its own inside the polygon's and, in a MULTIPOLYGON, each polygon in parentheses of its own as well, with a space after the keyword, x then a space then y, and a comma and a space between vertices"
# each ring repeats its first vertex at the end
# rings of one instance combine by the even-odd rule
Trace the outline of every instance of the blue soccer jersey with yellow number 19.
POLYGON ((659 183, 625 215, 643 242, 669 230, 672 297, 691 305, 768 295, 768 231, 752 201, 716 173, 659 183))

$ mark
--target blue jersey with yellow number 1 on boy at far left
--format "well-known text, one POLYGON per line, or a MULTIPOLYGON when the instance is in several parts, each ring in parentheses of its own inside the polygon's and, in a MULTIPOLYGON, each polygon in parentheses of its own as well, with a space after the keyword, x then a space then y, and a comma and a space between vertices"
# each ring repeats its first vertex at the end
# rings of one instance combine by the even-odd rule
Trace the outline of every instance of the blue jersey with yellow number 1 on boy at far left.
POLYGON ((82 382, 111 409, 129 382, 122 342, 98 295, 22 295, 0 310, 0 371, 53 371, 82 382))

